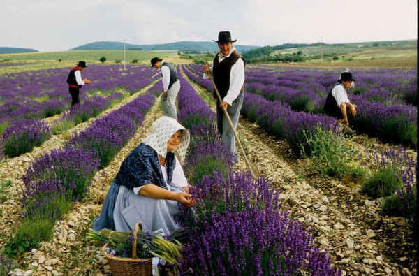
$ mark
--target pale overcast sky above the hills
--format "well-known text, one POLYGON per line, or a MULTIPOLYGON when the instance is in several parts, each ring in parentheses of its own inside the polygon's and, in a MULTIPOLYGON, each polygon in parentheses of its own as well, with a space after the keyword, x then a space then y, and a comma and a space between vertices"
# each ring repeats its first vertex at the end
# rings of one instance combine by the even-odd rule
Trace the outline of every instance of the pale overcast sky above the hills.
POLYGON ((63 51, 96 41, 239 45, 417 39, 416 0, 0 0, 0 47, 63 51))

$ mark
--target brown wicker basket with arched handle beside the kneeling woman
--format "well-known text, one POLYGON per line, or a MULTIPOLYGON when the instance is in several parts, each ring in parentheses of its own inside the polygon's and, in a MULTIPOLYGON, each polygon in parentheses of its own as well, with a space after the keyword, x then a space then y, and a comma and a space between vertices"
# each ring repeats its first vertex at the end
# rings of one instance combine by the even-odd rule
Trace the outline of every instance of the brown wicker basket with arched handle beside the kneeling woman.
MULTIPOLYGON (((138 228, 142 230, 141 224, 138 222, 135 224, 133 236, 137 238, 138 228)), ((110 271, 115 276, 129 276, 129 275, 140 275, 149 276, 152 275, 152 259, 135 259, 137 256, 137 242, 133 242, 132 258, 121 258, 116 256, 110 256, 105 252, 105 248, 109 246, 107 242, 102 247, 102 253, 105 259, 108 260, 110 271)))

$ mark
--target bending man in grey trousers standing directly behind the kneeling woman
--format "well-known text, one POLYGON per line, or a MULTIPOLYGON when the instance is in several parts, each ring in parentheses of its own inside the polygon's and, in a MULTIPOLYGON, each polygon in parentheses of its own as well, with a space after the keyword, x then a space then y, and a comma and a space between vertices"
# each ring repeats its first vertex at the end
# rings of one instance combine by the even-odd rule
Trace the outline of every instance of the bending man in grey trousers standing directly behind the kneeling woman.
POLYGON ((150 62, 152 63, 152 67, 160 68, 161 70, 161 77, 163 78, 163 89, 161 91, 163 94, 161 95, 160 102, 163 114, 177 119, 176 97, 180 90, 177 71, 172 64, 164 62, 159 57, 153 57, 150 62))

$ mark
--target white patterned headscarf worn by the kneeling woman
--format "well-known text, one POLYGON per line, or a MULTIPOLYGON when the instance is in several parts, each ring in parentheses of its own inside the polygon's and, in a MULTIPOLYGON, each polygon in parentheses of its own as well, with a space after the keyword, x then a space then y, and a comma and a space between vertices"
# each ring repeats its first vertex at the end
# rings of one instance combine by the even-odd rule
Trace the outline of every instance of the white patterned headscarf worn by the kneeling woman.
POLYGON ((177 131, 183 129, 182 138, 175 152, 179 156, 179 161, 183 162, 186 156, 186 150, 189 145, 190 135, 182 124, 179 124, 176 119, 170 117, 160 117, 153 123, 153 133, 142 140, 145 145, 152 147, 157 154, 166 158, 168 150, 168 140, 177 131))

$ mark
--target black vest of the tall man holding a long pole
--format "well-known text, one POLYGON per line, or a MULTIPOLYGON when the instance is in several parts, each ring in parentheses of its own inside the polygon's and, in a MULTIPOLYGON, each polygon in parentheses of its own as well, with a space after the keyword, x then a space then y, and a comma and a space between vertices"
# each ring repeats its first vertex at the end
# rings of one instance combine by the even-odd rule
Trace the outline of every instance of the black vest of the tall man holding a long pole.
MULTIPOLYGON (((232 52, 230 57, 226 57, 221 62, 219 62, 219 54, 217 54, 214 58, 212 72, 214 74, 214 82, 220 93, 221 99, 224 99, 227 95, 228 89, 230 88, 231 67, 238 59, 243 59, 243 57, 237 51, 232 52)), ((244 61, 244 59, 243 62, 244 66, 246 66, 246 61, 244 61)), ((243 90, 243 87, 241 90, 243 90)), ((214 95, 214 98, 216 98, 216 95, 214 95)))

